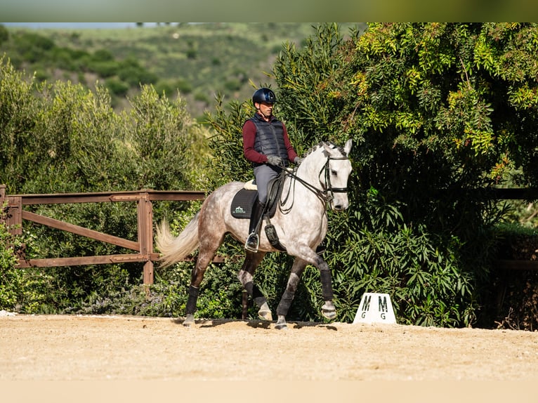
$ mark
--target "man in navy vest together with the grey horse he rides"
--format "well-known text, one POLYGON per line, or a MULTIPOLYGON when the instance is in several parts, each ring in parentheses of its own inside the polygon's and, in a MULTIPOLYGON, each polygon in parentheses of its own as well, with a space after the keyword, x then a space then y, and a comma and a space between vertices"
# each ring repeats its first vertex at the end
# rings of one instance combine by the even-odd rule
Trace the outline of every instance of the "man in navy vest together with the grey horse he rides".
POLYGON ((243 127, 244 154, 254 164, 258 186, 254 212, 250 217, 247 215, 250 223, 233 215, 234 199, 245 187, 245 183, 233 181, 211 192, 178 236, 171 234, 166 220, 157 227, 157 249, 162 253, 159 260, 163 267, 185 259, 198 249, 191 272, 184 326, 195 323, 199 287, 226 234, 245 242, 247 253, 237 278, 258 306, 258 317, 273 320, 267 298, 254 283, 256 267, 265 253, 286 251, 295 258, 286 289, 276 308, 275 329, 287 328, 286 315, 307 265, 320 270, 323 317, 329 320, 336 318, 331 270, 321 254, 317 253, 317 248, 327 234, 327 206, 333 211, 344 211, 349 206, 348 178, 353 169, 350 161, 353 142, 348 139, 341 147, 322 141, 299 159, 291 147, 286 127, 273 117, 275 98, 275 93, 268 88, 256 91, 252 97, 256 114, 243 127), (297 169, 283 171, 290 161, 298 165, 297 169), (268 202, 268 183, 280 172, 285 174, 282 177, 282 189, 285 191, 277 196, 277 208, 260 236, 258 230, 264 225, 261 218, 268 202), (272 227, 272 231, 268 232, 268 227, 272 227), (274 239, 277 239, 278 245, 273 242, 274 239))

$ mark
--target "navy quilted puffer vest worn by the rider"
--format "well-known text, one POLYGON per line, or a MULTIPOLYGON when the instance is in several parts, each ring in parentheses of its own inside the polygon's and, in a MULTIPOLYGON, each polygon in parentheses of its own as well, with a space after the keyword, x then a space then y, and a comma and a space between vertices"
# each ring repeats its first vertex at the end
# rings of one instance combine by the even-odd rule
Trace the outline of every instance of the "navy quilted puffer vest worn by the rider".
POLYGON ((282 125, 282 121, 277 119, 265 121, 258 114, 249 120, 256 126, 254 150, 265 155, 277 155, 282 158, 284 166, 288 166, 288 151, 284 144, 284 126, 282 125))

